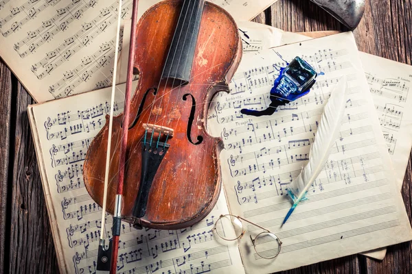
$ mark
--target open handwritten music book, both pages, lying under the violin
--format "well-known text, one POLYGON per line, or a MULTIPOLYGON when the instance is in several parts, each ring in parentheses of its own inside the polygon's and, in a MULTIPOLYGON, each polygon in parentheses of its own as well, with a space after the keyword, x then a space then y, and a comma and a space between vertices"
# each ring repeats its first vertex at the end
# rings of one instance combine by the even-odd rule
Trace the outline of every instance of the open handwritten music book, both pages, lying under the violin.
MULTIPOLYGON (((412 239, 352 33, 244 55, 230 88, 214 98, 207 117, 209 132, 225 144, 225 191, 218 204, 203 221, 179 231, 123 223, 118 273, 271 273, 412 239), (276 68, 285 65, 279 55, 300 55, 325 75, 309 95, 272 116, 242 116, 241 108, 267 107, 276 68), (287 184, 308 158, 323 106, 342 75, 348 100, 340 138, 308 200, 281 228, 291 205, 287 184), (211 228, 227 212, 277 234, 280 255, 260 258, 248 235, 238 242, 218 240, 211 228)), ((101 209, 84 188, 82 161, 104 124, 109 93, 95 90, 28 108, 62 273, 95 273, 101 209)), ((123 97, 117 92, 117 113, 123 97)), ((111 216, 107 221, 110 238, 111 216)), ((252 236, 261 232, 245 228, 252 236)))

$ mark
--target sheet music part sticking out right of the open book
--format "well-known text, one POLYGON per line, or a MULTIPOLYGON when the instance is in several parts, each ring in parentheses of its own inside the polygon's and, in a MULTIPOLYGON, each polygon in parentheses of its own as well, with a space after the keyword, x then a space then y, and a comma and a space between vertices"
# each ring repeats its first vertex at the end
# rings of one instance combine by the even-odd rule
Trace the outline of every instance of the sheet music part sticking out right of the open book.
POLYGON ((412 66, 363 52, 359 55, 401 188, 412 147, 412 66))

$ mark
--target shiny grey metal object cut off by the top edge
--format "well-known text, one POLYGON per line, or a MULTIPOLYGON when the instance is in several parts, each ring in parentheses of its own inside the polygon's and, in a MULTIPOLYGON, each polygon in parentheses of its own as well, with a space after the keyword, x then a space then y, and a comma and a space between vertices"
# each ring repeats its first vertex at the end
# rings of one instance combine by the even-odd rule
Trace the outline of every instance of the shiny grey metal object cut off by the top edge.
POLYGON ((361 22, 365 0, 310 0, 329 12, 349 29, 355 29, 361 22))

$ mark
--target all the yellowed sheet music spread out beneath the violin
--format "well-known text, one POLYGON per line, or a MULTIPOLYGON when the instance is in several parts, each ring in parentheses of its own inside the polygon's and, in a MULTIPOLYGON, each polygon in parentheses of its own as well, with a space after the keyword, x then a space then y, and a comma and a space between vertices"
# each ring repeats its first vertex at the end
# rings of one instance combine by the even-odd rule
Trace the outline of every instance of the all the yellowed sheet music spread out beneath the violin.
MULTIPOLYGON (((139 13, 157 2, 140 1, 139 13)), ((249 20, 274 1, 212 2, 249 20)), ((124 3, 128 18, 132 1, 124 3)), ((0 55, 36 101, 58 99, 28 112, 62 273, 95 273, 101 208, 84 188, 82 163, 110 110, 110 91, 95 89, 111 83, 116 5, 0 2, 0 55), (87 90, 95 91, 59 99, 87 90)), ((307 40, 250 22, 240 22, 239 30, 243 60, 230 94, 213 99, 207 119, 209 132, 225 144, 220 154, 225 191, 194 227, 139 231, 123 223, 118 272, 268 273, 411 240, 398 191, 412 145, 411 66, 358 53, 351 33, 307 40), (297 43, 268 50, 292 42, 297 43), (267 108, 277 68, 295 55, 325 73, 310 94, 272 116, 240 114, 242 108, 267 108), (308 201, 281 228, 290 208, 285 190, 308 159, 323 106, 342 75, 348 79, 348 101, 340 138, 308 201), (249 236, 219 240, 211 228, 228 212, 277 234, 284 243, 281 254, 260 258, 249 236)), ((123 52, 129 32, 125 23, 123 52)), ((126 54, 117 60, 118 83, 125 81, 126 60, 126 54)), ((123 110, 123 90, 119 85, 117 113, 123 110)), ((107 221, 104 237, 111 238, 111 216, 107 221)), ((261 232, 245 228, 252 236, 261 232)))

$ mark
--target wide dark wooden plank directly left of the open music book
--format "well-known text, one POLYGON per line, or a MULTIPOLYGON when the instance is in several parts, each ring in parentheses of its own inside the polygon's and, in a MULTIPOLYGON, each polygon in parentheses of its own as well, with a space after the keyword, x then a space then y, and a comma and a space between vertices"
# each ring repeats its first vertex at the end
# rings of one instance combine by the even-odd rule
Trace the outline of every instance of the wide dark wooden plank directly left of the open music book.
POLYGON ((13 136, 10 273, 58 273, 52 232, 38 172, 27 105, 34 103, 18 84, 13 136))

